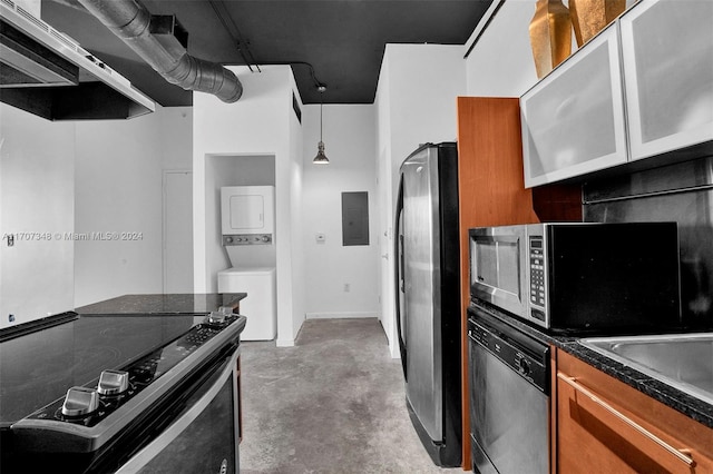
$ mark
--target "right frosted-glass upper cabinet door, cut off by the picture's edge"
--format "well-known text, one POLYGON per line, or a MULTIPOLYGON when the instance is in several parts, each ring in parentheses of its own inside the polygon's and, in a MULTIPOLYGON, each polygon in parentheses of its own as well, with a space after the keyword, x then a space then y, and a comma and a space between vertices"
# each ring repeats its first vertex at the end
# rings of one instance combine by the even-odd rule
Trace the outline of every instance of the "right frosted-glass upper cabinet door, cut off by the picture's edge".
POLYGON ((713 140, 713 2, 641 2, 621 18, 631 159, 713 140))

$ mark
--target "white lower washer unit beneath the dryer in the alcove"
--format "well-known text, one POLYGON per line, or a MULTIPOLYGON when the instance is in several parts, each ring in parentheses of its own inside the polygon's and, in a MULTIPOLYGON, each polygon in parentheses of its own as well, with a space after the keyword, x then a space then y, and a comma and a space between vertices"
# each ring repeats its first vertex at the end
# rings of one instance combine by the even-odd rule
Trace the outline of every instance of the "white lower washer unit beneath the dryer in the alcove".
POLYGON ((218 271, 218 293, 247 293, 241 300, 241 315, 247 318, 241 340, 272 340, 277 336, 274 267, 218 271))

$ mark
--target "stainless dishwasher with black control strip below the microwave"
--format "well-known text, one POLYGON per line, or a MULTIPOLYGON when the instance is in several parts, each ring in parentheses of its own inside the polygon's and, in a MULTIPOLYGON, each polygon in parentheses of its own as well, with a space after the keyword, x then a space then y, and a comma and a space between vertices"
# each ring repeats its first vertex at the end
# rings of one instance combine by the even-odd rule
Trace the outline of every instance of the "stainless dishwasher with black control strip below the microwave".
POLYGON ((473 472, 549 472, 549 347, 468 308, 473 472))

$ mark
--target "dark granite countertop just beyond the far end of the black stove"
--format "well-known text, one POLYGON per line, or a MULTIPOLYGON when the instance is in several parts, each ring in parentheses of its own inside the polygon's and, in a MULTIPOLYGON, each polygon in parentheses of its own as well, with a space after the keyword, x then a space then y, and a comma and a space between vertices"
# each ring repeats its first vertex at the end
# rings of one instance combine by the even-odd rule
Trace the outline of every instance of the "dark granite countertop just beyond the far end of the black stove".
POLYGON ((172 293, 124 295, 76 308, 80 315, 211 313, 221 306, 237 308, 246 293, 172 293))

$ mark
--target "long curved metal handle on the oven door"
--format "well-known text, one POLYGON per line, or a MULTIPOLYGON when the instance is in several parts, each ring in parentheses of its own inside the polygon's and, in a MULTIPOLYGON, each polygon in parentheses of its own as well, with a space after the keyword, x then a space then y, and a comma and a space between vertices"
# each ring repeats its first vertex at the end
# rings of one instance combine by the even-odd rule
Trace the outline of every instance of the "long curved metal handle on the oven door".
MULTIPOLYGON (((223 386, 225 379, 229 376, 235 376, 235 367, 237 366, 237 357, 240 356, 240 349, 231 356, 227 364, 223 367, 219 377, 215 383, 206 391, 206 393, 179 418, 172 423, 160 435, 152 441, 147 446, 141 448, 138 453, 131 456, 126 463, 124 463, 116 474, 130 474, 140 472, 158 453, 173 443, 191 424, 208 407, 211 402, 217 396, 223 386)), ((238 396, 236 394, 236 396, 238 396)), ((235 414, 237 426, 237 413, 235 414)), ((237 443, 236 443, 237 450, 237 443)))

